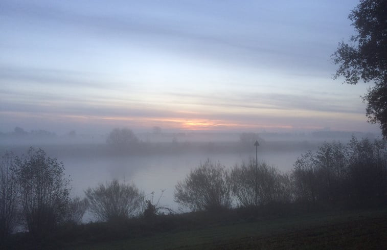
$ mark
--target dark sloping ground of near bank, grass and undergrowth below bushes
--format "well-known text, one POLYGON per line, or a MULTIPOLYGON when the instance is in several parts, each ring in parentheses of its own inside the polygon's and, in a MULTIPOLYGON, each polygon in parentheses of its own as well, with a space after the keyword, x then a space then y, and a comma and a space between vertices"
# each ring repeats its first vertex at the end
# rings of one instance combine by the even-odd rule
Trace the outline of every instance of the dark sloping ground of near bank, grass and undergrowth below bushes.
POLYGON ((318 211, 233 209, 62 226, 6 249, 385 249, 387 208, 318 211))

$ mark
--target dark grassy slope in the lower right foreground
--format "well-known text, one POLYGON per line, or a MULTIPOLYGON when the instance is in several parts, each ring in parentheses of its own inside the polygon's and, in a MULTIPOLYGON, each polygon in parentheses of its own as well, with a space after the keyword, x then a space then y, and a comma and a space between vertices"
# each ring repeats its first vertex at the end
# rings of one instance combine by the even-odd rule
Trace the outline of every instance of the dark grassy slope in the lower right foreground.
POLYGON ((385 249, 387 209, 315 212, 67 249, 385 249))

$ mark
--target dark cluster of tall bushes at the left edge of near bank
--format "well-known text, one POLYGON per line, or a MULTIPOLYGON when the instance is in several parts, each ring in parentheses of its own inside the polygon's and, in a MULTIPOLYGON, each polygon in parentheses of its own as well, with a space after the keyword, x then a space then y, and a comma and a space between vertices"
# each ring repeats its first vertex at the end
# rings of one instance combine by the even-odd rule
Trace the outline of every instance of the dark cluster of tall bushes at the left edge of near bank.
POLYGON ((64 225, 80 223, 84 200, 70 198, 70 179, 62 163, 42 149, 0 159, 0 249, 57 248, 64 225), (15 229, 28 233, 15 233, 15 229))

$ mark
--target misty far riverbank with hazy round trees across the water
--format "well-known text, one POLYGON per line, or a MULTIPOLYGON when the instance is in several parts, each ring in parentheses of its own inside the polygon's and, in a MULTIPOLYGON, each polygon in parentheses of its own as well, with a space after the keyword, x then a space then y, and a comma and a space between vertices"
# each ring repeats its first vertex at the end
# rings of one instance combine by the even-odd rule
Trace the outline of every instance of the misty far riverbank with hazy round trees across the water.
MULTIPOLYGON (((24 131, 24 130, 22 130, 24 131)), ((43 133, 43 132, 42 132, 43 133)), ((45 140, 48 137, 34 137, 32 132, 19 132, 20 138, 31 139, 31 141, 17 141, 19 137, 13 140, 11 135, 8 138, 9 143, 0 145, 0 152, 13 151, 16 154, 21 154, 28 150, 27 145, 34 147, 46 148, 47 153, 58 157, 71 156, 82 157, 84 155, 97 156, 117 156, 117 155, 177 155, 191 153, 255 153, 254 143, 259 142, 259 152, 294 152, 306 151, 315 149, 321 142, 313 141, 266 141, 258 133, 240 133, 234 134, 233 137, 228 137, 225 141, 220 138, 211 140, 212 134, 199 133, 199 138, 195 138, 195 134, 154 134, 154 137, 163 137, 169 141, 161 140, 161 142, 149 142, 141 140, 130 129, 116 128, 113 129, 104 140, 101 138, 87 138, 87 143, 76 141, 75 132, 73 135, 66 137, 64 141, 45 140), (207 137, 206 137, 207 135, 207 137), (74 138, 74 140, 72 140, 74 138), (33 139, 33 140, 32 140, 33 139), (190 139, 195 139, 189 141, 190 139), (93 141, 94 140, 94 141, 93 141), (102 141, 101 141, 102 140, 102 141), (203 140, 203 141, 201 141, 203 140), (207 141, 206 141, 207 140, 207 141), (12 143, 12 142, 18 143, 12 143)), ((45 132, 43 134, 46 134, 45 132)), ((49 134, 49 133, 47 133, 49 134)), ((224 134, 223 134, 224 135, 224 134)), ((222 136, 223 136, 222 135, 222 136)), ((7 135, 8 136, 8 135, 7 135)), ((53 138, 58 139, 55 135, 53 138)), ((224 135, 226 136, 226 135, 224 135)), ((63 139, 63 138, 62 138, 63 139)))

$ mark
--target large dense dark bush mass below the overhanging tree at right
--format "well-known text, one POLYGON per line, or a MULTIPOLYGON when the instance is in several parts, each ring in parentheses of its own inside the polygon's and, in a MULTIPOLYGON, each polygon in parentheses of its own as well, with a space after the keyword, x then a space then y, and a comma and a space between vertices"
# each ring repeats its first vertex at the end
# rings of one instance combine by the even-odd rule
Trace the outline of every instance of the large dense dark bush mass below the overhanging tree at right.
POLYGON ((294 163, 294 193, 298 200, 337 206, 386 201, 386 142, 352 138, 348 145, 325 143, 294 163))

